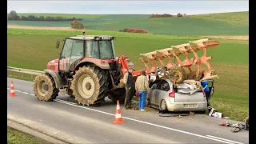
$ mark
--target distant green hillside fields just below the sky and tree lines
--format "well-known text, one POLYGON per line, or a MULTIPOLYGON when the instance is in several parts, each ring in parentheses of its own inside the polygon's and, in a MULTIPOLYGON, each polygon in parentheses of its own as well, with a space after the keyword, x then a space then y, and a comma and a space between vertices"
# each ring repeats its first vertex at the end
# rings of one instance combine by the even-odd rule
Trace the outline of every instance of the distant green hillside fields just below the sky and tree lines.
MULTIPOLYGON (((29 15, 29 14, 19 14, 29 15)), ((83 18, 87 30, 118 31, 125 28, 146 29, 151 34, 171 35, 247 35, 249 13, 200 14, 184 18, 147 18, 146 14, 34 14, 83 18)), ((10 25, 70 26, 70 22, 8 21, 10 25)))

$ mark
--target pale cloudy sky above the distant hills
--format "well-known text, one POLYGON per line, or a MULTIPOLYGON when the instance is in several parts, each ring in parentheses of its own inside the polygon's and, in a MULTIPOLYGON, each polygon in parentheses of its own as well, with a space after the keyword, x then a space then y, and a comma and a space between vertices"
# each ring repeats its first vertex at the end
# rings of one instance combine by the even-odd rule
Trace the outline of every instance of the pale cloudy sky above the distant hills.
POLYGON ((7 13, 56 14, 210 14, 249 11, 249 0, 241 1, 7 1, 7 13))

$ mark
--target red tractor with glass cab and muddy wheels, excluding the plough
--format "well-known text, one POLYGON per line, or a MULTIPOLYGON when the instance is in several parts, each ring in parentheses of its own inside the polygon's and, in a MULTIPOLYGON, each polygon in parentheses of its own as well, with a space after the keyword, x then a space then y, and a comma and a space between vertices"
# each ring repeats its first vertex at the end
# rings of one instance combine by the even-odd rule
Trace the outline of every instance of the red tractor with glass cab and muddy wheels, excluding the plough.
MULTIPOLYGON (((120 80, 133 63, 124 56, 115 57, 114 39, 107 35, 65 38, 60 57, 34 79, 38 100, 52 101, 62 89, 62 94, 82 105, 97 105, 106 96, 113 102, 124 102, 126 90, 120 80)), ((59 45, 57 41, 56 48, 59 45)))

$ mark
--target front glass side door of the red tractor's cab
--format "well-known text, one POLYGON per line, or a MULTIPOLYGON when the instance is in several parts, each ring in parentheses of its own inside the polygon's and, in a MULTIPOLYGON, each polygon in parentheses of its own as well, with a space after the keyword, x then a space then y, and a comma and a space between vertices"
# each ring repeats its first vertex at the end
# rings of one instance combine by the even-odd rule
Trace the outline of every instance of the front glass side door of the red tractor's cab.
POLYGON ((72 64, 81 58, 84 58, 84 41, 66 38, 59 58, 59 71, 73 71, 72 64))

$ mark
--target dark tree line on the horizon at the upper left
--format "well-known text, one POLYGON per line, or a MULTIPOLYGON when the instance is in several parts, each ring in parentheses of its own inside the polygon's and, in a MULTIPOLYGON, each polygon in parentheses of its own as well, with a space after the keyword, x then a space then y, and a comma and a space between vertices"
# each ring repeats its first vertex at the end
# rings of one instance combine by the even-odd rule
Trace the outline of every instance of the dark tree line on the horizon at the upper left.
POLYGON ((7 16, 8 20, 14 20, 14 21, 74 21, 74 20, 79 20, 81 21, 82 18, 64 18, 62 16, 57 16, 57 17, 50 17, 50 16, 39 16, 36 17, 34 15, 29 15, 29 16, 19 16, 15 10, 11 10, 10 14, 7 16))

